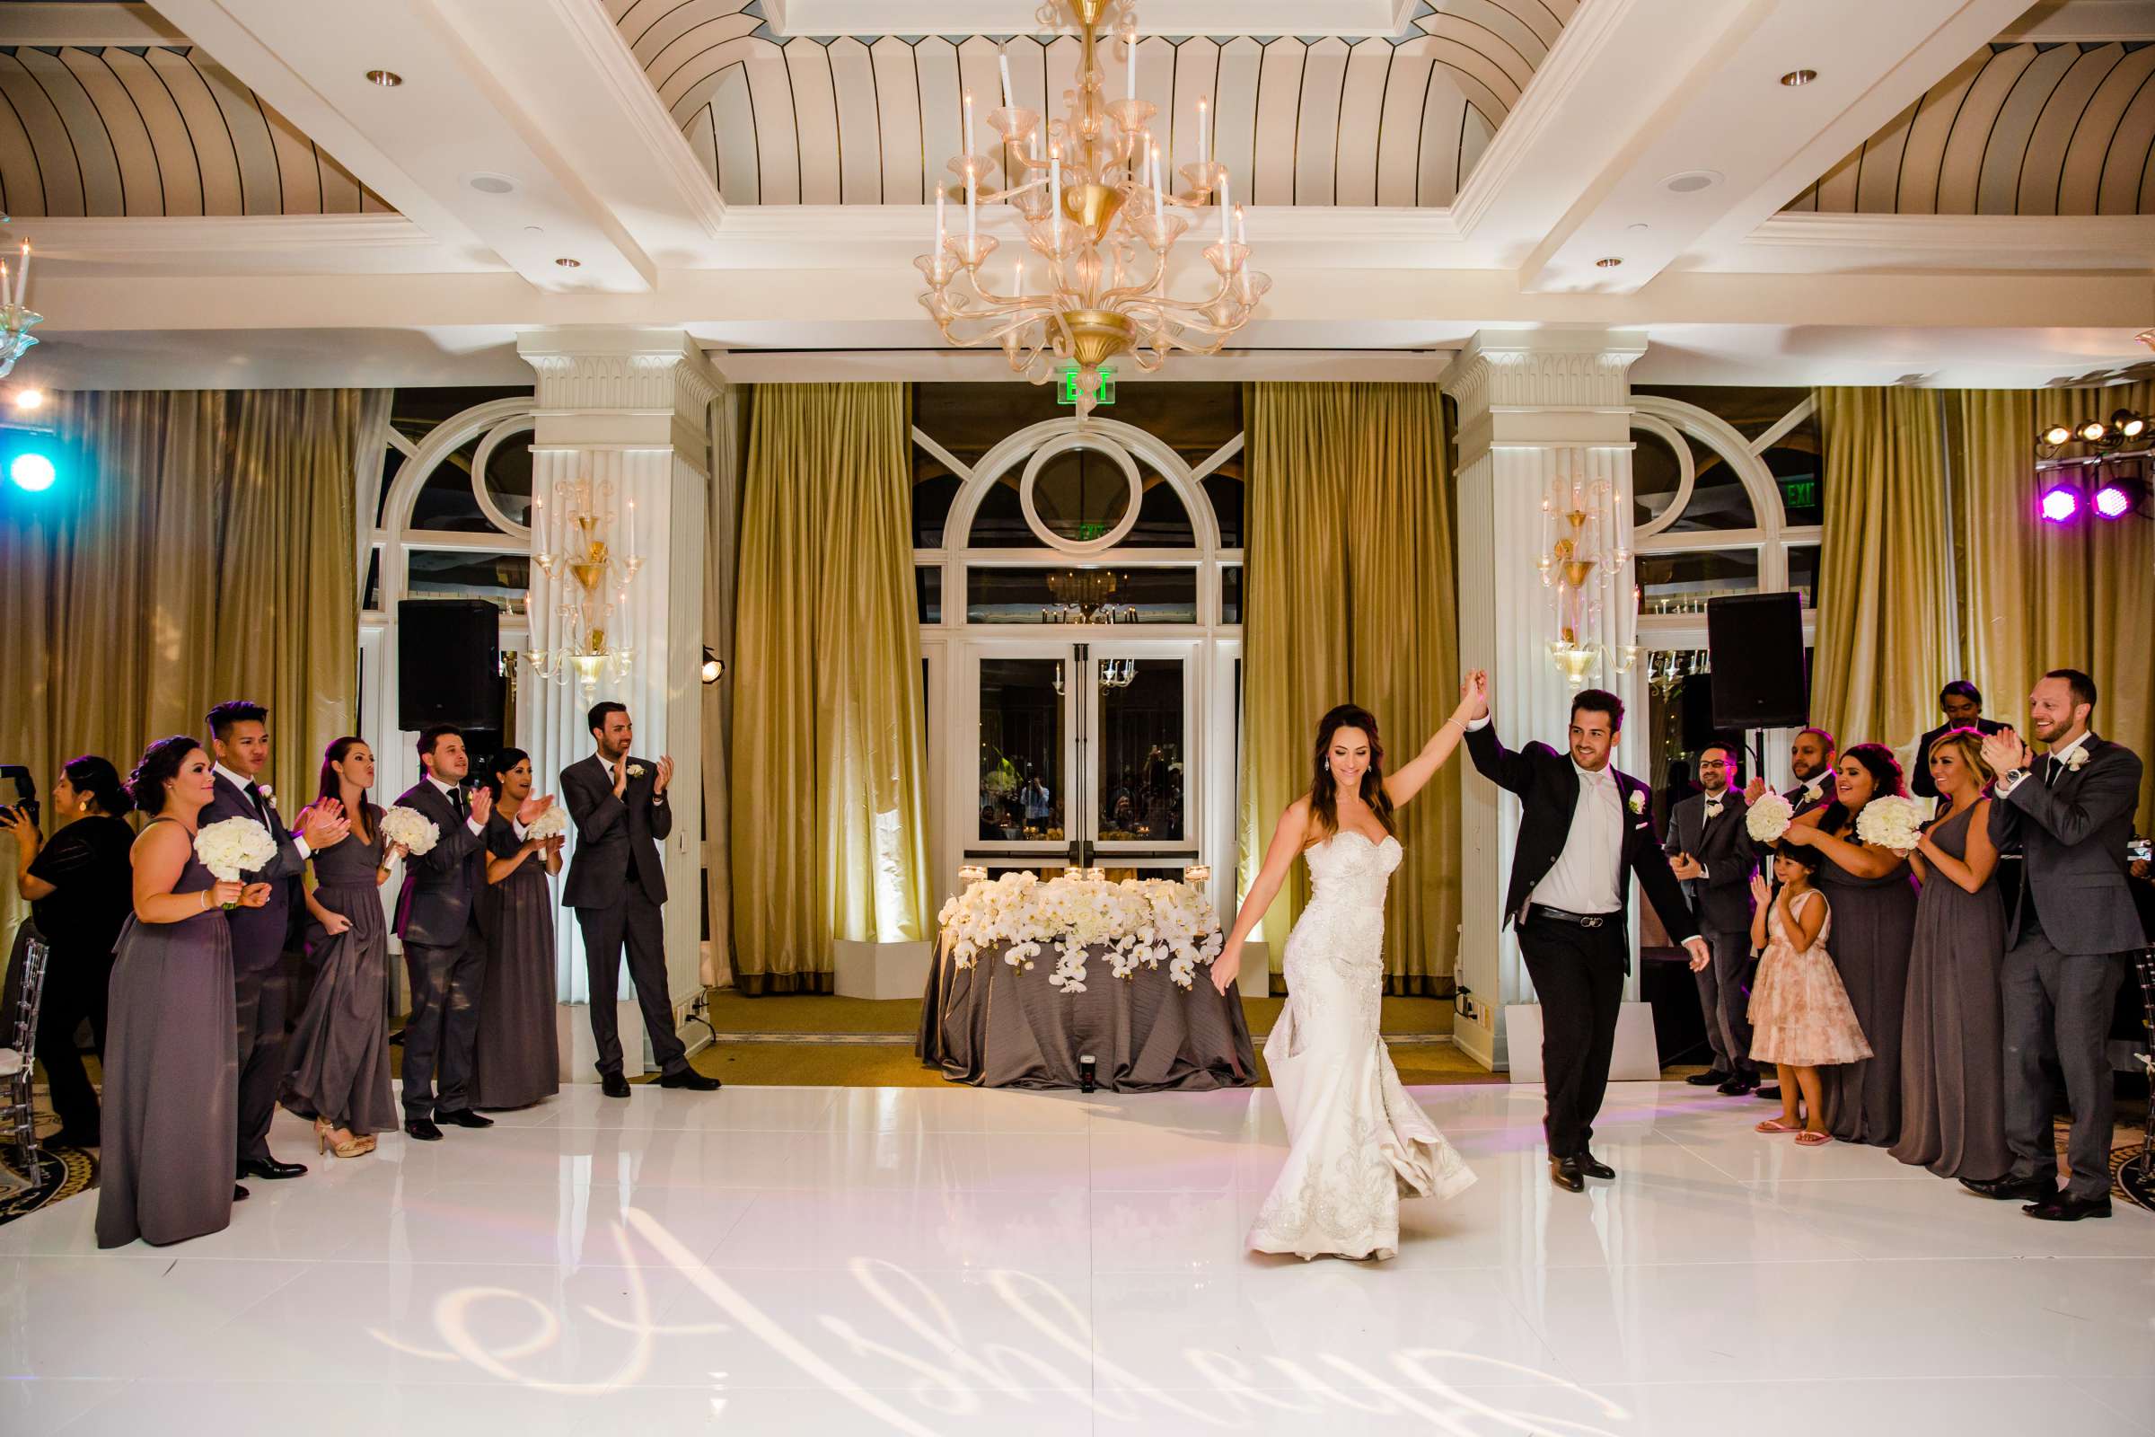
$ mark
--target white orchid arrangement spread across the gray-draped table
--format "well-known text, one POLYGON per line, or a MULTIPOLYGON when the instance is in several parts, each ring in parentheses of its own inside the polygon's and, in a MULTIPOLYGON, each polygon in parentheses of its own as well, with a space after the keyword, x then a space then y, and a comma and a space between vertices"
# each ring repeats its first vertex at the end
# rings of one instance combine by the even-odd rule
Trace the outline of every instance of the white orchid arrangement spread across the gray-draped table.
POLYGON ((1056 950, 1047 982, 1062 993, 1084 993, 1086 961, 1106 950, 1108 972, 1136 976, 1138 967, 1168 965, 1168 978, 1190 989, 1200 963, 1220 957, 1226 935, 1209 898, 1170 879, 1056 877, 1009 873, 981 881, 944 903, 937 922, 950 941, 950 961, 972 967, 983 952, 1024 972, 1049 946, 1056 950))

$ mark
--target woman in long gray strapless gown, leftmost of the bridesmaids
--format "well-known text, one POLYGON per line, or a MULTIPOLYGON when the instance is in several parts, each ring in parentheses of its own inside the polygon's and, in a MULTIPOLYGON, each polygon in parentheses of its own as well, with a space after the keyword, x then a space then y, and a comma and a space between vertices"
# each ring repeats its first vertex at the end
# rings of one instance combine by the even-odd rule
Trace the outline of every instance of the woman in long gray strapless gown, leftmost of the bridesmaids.
POLYGON ((183 1243, 233 1222, 239 1038, 233 931, 222 905, 263 907, 267 883, 222 883, 194 857, 215 789, 209 754, 157 739, 127 776, 155 814, 134 842, 134 913, 112 959, 97 1245, 183 1243))

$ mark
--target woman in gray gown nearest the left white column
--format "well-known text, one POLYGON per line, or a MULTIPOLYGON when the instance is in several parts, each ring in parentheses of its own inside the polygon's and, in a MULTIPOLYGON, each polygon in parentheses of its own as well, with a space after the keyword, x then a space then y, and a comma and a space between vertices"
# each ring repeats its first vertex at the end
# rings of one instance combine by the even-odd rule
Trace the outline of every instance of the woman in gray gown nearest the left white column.
MULTIPOLYGON (((487 821, 487 892, 478 924, 487 935, 487 1000, 472 1051, 472 1107, 530 1107, 560 1090, 560 1038, 554 1028, 554 885, 562 838, 517 838, 532 795, 532 761, 506 748, 487 765, 493 819, 487 821), (509 814, 515 814, 511 819, 509 814)), ((541 799, 530 817, 552 808, 541 799)))

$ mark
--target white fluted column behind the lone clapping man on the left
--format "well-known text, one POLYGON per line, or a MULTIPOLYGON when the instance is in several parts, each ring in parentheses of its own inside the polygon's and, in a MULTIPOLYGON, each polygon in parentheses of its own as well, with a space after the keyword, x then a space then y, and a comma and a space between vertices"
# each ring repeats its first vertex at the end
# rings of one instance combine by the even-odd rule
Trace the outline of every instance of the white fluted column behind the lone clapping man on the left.
MULTIPOLYGON (((666 978, 675 1021, 696 1000, 703 931, 703 614, 705 496, 711 480, 711 401, 722 379, 681 330, 565 327, 517 336, 517 353, 539 373, 532 435, 532 493, 556 526, 556 485, 590 480, 595 500, 612 513, 610 541, 629 554, 629 502, 636 504, 634 554, 642 564, 625 601, 606 623, 608 646, 629 646, 625 679, 599 679, 586 689, 539 681, 526 664, 517 707, 517 741, 532 756, 539 793, 560 791, 560 771, 593 752, 586 711, 614 700, 636 722, 636 754, 672 754, 668 797, 675 810, 666 857, 666 978)), ((558 532, 558 530, 556 530, 558 532)), ((534 524, 534 549, 543 543, 534 524)), ((558 547, 558 543, 556 543, 558 547)), ((616 584, 618 588, 618 584, 616 584)), ((532 564, 532 648, 573 644, 556 605, 575 592, 567 567, 554 577, 532 564)), ((569 840, 575 860, 575 838, 569 840)), ((573 1082, 595 1082, 590 985, 584 944, 571 909, 554 926, 560 963, 562 1069, 573 1082)), ((627 974, 621 976, 621 1045, 627 1073, 642 1071, 644 1023, 627 974)))

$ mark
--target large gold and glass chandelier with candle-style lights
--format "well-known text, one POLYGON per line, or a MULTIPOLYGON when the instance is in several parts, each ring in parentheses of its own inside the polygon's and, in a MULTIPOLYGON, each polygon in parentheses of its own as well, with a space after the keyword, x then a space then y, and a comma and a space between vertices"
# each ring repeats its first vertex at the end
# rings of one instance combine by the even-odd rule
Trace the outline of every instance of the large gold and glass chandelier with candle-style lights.
MULTIPOLYGON (((1088 414, 1101 366, 1129 355, 1157 371, 1172 349, 1218 353, 1250 323, 1271 280, 1250 269, 1241 207, 1228 172, 1211 157, 1207 101, 1198 101, 1198 157, 1181 168, 1185 187, 1168 192, 1151 123, 1159 108, 1138 99, 1138 34, 1131 0, 1047 0, 1043 26, 1075 22, 1084 43, 1069 112, 1045 121, 1011 95, 1002 56, 1002 108, 987 116, 1002 140, 1006 185, 989 192, 996 164, 974 144, 972 95, 965 97, 965 153, 950 172, 965 187, 965 231, 953 233, 946 190, 935 190, 935 250, 914 261, 929 289, 920 304, 944 338, 961 349, 1002 345, 1011 368, 1047 383, 1056 362, 1078 366, 1078 414, 1088 414), (1112 22, 1123 45, 1123 99, 1108 99, 1101 28, 1112 22), (1028 254, 991 267, 998 241, 981 233, 981 207, 1009 205, 1024 226, 1028 254), (1168 274, 1177 241, 1218 213, 1218 239, 1205 248, 1211 293, 1177 299, 1168 274), (1006 289, 1002 289, 1006 284, 1006 289)), ((1209 228, 1209 226, 1207 226, 1209 228)))

